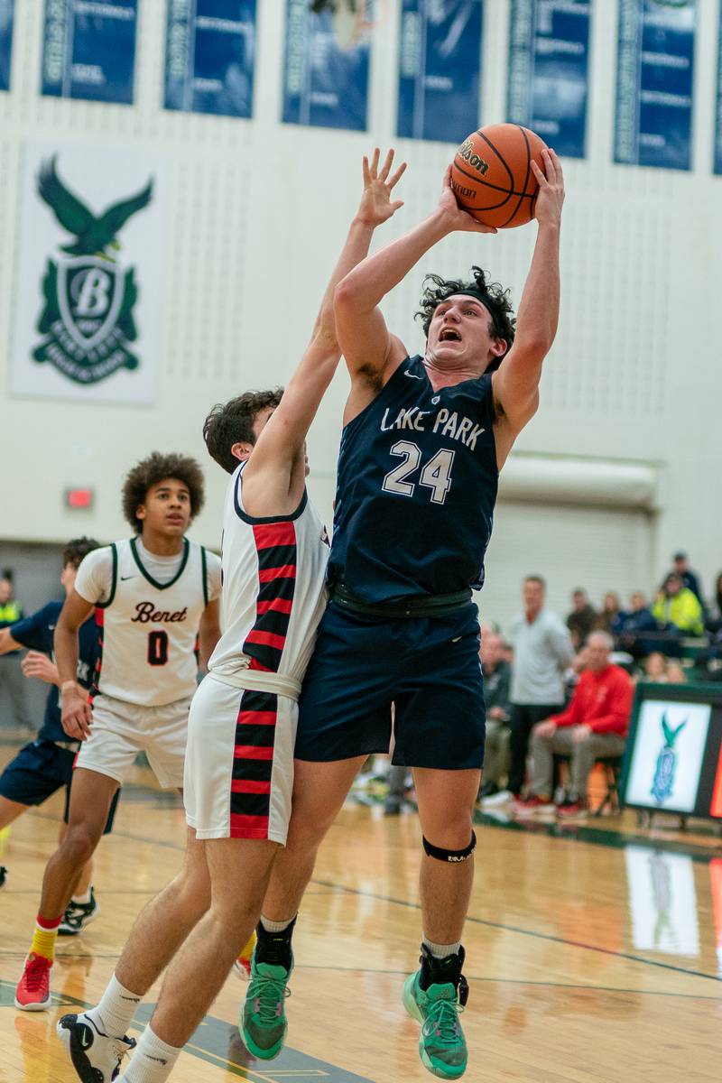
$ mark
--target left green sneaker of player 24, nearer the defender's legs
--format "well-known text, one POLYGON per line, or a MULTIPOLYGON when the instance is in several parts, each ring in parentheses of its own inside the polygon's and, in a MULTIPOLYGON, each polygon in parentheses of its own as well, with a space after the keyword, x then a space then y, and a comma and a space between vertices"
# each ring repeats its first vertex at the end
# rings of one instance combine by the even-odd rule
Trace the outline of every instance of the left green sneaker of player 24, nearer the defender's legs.
POLYGON ((293 969, 293 955, 288 969, 251 958, 251 980, 240 1009, 238 1029, 246 1048, 259 1060, 273 1060, 284 1047, 288 1019, 285 1000, 291 995, 288 979, 293 969))

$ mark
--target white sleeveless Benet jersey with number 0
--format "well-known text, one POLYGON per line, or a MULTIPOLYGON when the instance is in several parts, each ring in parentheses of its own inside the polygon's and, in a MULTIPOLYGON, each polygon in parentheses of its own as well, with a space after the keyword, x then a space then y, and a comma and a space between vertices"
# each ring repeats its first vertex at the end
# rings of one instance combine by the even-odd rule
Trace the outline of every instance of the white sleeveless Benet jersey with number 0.
POLYGON ((193 695, 198 625, 208 604, 206 550, 183 542, 176 575, 160 584, 146 571, 133 538, 116 542, 113 587, 95 618, 101 658, 93 693, 157 707, 193 695))

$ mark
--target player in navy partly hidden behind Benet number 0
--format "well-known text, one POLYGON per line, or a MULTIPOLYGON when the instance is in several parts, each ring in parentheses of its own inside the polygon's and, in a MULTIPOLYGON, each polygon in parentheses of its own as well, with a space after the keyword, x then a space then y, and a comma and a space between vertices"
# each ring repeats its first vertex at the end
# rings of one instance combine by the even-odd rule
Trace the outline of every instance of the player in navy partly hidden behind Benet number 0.
MULTIPOLYGON (((66 596, 73 590, 78 566, 83 557, 97 549, 100 542, 93 538, 74 538, 63 550, 61 584, 66 596)), ((53 661, 53 632, 63 602, 52 601, 30 616, 0 630, 0 654, 25 647, 28 653, 23 658, 26 677, 37 677, 50 684, 45 701, 45 713, 38 735, 30 744, 17 753, 0 774, 0 831, 17 820, 28 808, 42 805, 49 797, 65 786, 64 823, 61 840, 65 835, 73 762, 80 747, 79 741, 69 741, 61 723, 61 705, 57 690, 57 667, 53 661)), ((78 650, 78 683, 89 689, 97 661, 97 630, 95 621, 89 617, 80 628, 78 650)), ((107 834, 113 827, 114 803, 105 827, 107 834)), ((86 864, 60 926, 61 936, 73 936, 97 914, 97 903, 90 884, 93 862, 86 864)), ((0 880, 4 885, 6 871, 0 869, 0 880)))

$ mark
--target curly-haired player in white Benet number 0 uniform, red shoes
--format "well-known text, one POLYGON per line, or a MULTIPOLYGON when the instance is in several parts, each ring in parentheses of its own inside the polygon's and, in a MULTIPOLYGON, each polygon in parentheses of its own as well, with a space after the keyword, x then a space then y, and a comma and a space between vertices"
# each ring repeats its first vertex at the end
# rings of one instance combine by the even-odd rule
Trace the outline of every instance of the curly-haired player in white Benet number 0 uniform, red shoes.
POLYGON ((45 869, 30 951, 15 1006, 50 1004, 55 938, 110 804, 140 752, 162 786, 183 786, 196 648, 218 642, 220 560, 185 532, 204 504, 195 459, 155 452, 128 474, 123 512, 136 532, 88 553, 55 629, 62 722, 82 742, 65 838, 45 869), (95 610, 101 656, 90 696, 76 683, 78 629, 95 610))

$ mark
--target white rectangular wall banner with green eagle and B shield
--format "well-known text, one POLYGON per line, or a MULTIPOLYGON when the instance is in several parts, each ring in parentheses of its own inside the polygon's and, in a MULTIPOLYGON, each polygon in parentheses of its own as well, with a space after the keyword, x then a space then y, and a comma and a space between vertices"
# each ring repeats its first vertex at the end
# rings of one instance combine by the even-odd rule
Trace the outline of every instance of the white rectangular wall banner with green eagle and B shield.
POLYGON ((149 403, 160 356, 162 159, 26 147, 11 390, 149 403))

